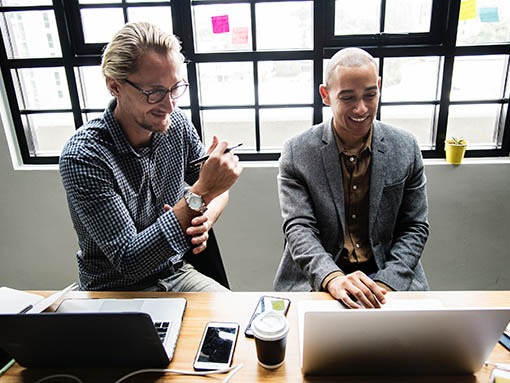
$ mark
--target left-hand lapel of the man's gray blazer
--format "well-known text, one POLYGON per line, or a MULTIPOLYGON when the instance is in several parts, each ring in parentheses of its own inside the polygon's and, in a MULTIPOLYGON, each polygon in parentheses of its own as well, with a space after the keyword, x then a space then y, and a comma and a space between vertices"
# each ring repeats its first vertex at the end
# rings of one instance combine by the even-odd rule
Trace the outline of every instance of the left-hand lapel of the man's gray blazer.
POLYGON ((344 190, 342 183, 342 169, 340 157, 336 146, 335 137, 331 127, 331 120, 323 124, 323 146, 320 148, 324 173, 328 180, 330 194, 333 197, 335 207, 340 218, 341 230, 345 227, 344 222, 344 190))

